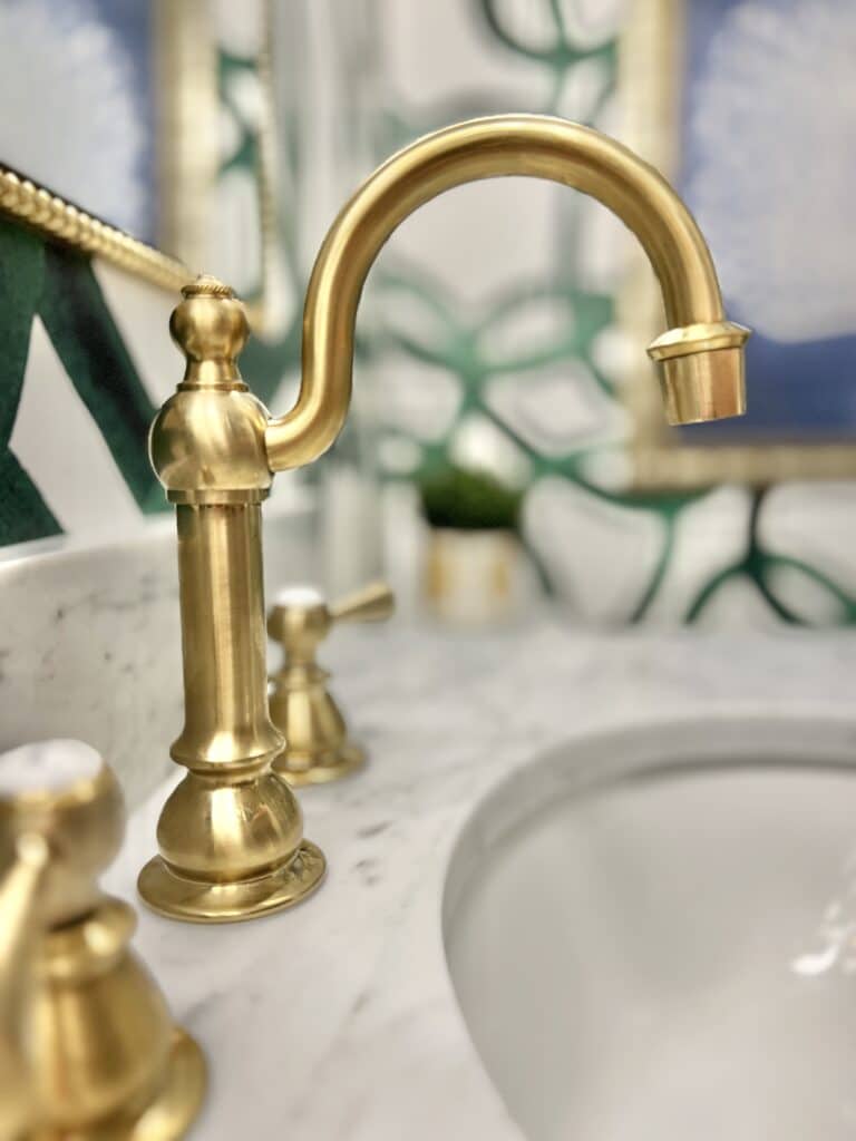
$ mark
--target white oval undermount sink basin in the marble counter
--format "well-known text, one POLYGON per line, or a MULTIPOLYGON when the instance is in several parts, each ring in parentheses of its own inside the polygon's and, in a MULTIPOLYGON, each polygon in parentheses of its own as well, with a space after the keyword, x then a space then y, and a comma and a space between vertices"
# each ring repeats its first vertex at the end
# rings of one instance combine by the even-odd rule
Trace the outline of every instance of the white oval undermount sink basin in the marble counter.
POLYGON ((444 936, 531 1141, 856 1136, 856 721, 681 721, 527 766, 444 936))

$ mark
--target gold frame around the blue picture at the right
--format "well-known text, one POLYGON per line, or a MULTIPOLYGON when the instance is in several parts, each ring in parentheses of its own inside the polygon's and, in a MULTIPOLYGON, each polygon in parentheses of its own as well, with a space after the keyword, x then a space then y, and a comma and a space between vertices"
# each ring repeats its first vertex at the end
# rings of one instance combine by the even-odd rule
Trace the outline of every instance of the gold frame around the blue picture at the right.
MULTIPOLYGON (((621 39, 620 90, 624 140, 672 180, 678 169, 678 120, 686 3, 694 0, 633 0, 621 39)), ((662 327, 660 297, 647 266, 633 264, 619 298, 619 321, 647 343, 662 327)), ((624 386, 633 423, 632 486, 637 491, 692 491, 713 484, 766 486, 788 479, 846 479, 856 476, 856 440, 829 444, 689 444, 662 419, 651 366, 624 386)), ((746 377, 749 400, 752 377, 746 377)))

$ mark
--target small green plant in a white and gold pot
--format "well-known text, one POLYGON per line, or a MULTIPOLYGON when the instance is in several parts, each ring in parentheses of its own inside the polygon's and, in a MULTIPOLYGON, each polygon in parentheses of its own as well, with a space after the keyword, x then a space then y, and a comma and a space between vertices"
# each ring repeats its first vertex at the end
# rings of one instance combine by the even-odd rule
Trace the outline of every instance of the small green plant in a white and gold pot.
POLYGON ((523 494, 484 471, 458 467, 419 482, 429 527, 425 596, 449 622, 487 624, 516 613, 522 591, 523 494))

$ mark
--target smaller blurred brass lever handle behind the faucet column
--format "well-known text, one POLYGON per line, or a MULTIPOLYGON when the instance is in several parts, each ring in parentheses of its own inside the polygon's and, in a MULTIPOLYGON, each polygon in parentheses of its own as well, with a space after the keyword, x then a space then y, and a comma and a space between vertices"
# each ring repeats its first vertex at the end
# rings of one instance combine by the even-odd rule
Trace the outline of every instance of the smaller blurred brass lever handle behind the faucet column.
POLYGON ((330 674, 315 661, 318 645, 336 622, 380 622, 393 613, 393 592, 378 582, 328 606, 317 591, 294 588, 276 599, 267 632, 282 645, 285 661, 274 675, 270 717, 285 737, 274 761, 290 784, 324 784, 358 768, 365 753, 348 741, 345 720, 328 691, 330 674))

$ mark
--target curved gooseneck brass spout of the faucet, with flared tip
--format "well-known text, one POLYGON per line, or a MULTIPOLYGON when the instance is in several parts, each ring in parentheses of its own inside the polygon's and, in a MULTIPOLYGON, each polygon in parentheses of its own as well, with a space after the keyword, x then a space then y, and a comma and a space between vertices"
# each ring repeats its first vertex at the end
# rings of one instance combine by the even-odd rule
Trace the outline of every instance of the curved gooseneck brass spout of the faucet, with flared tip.
POLYGON ((350 400, 356 310, 390 234, 453 186, 512 175, 592 195, 639 238, 660 280, 669 324, 648 350, 663 362, 669 421, 744 411, 742 346, 749 330, 726 321, 710 251, 669 184, 598 131, 544 115, 498 115, 436 131, 393 155, 339 213, 306 296, 300 394, 266 430, 270 470, 309 463, 341 430, 350 400))

